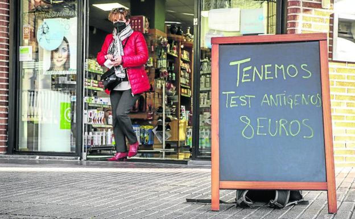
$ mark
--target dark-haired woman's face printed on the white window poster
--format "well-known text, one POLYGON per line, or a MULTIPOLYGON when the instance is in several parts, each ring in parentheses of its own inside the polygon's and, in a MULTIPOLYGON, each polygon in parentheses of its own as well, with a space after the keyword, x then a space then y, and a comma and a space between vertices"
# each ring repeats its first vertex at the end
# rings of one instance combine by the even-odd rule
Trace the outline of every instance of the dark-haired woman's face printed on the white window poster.
POLYGON ((48 71, 67 71, 70 68, 70 50, 67 38, 63 38, 58 48, 50 53, 50 67, 48 71))

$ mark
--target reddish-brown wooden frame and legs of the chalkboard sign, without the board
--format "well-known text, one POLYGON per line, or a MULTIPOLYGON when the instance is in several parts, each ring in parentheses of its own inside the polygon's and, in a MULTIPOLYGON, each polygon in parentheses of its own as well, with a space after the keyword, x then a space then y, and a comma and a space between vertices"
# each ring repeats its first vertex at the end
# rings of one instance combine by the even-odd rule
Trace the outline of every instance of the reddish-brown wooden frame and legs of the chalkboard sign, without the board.
POLYGON ((328 193, 328 212, 337 213, 335 191, 332 117, 328 73, 328 44, 326 33, 259 35, 242 37, 212 38, 212 170, 211 193, 212 210, 219 210, 220 189, 279 189, 279 190, 326 190, 328 193), (219 45, 256 44, 275 42, 318 41, 320 45, 320 70, 323 101, 323 129, 326 159, 326 182, 260 182, 260 181, 220 181, 219 178, 219 45))

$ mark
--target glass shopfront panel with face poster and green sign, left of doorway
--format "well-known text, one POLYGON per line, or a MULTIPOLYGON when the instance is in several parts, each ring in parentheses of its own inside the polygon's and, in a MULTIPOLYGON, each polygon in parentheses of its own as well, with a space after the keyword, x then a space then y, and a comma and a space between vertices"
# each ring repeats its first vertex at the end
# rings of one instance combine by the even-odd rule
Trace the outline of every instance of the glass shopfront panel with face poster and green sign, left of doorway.
POLYGON ((76 152, 77 1, 20 0, 20 152, 76 152))

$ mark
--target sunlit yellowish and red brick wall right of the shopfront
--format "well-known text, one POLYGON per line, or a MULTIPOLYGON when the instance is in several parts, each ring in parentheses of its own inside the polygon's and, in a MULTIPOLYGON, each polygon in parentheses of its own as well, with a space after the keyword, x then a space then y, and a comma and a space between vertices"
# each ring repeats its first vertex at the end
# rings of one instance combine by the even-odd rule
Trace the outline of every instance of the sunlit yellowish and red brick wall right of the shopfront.
POLYGON ((355 166, 355 64, 333 61, 333 0, 288 0, 287 33, 328 33, 329 78, 334 159, 337 166, 355 166))

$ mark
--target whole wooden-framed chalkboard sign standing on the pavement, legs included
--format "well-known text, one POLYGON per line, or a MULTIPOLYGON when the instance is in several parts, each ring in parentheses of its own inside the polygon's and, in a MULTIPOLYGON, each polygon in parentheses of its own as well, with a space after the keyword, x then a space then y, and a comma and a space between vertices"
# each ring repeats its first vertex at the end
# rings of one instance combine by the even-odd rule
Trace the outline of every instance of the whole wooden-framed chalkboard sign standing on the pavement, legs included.
POLYGON ((337 212, 326 34, 212 38, 219 189, 327 190, 337 212))

